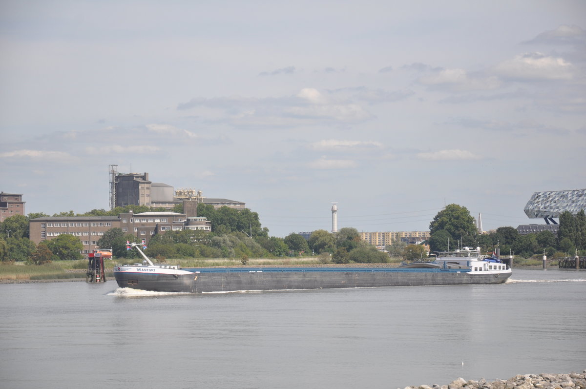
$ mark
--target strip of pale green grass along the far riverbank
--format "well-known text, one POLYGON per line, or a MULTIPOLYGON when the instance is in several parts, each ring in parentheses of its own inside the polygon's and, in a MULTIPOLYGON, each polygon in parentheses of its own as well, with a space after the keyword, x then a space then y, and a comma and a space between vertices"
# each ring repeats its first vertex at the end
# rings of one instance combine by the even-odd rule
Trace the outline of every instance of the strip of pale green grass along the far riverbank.
MULTIPOLYGON (((134 260, 121 258, 120 260, 105 260, 106 279, 113 279, 111 269, 114 265, 131 263, 134 260)), ((241 258, 191 258, 191 259, 169 259, 162 263, 179 265, 182 268, 197 267, 398 267, 401 264, 400 258, 391 258, 385 264, 332 264, 324 260, 322 256, 312 257, 280 257, 280 258, 247 258, 246 265, 241 258)), ((25 284, 32 282, 66 282, 84 281, 86 279, 87 260, 77 261, 52 261, 43 265, 26 265, 24 262, 0 262, 0 284, 25 284)), ((531 258, 513 264, 513 269, 518 268, 541 268, 541 261, 531 258)), ((547 265, 548 268, 557 268, 557 262, 547 265)))

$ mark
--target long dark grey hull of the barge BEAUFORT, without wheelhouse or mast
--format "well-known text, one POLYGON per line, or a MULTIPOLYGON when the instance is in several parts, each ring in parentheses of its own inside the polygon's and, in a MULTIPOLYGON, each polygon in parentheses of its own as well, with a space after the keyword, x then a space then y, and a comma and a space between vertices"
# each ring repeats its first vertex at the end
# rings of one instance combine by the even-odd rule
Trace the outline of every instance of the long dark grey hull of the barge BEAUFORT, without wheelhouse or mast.
POLYGON ((182 269, 180 274, 117 271, 121 288, 158 292, 233 292, 287 289, 376 288, 382 286, 502 284, 511 271, 458 269, 258 268, 182 269))

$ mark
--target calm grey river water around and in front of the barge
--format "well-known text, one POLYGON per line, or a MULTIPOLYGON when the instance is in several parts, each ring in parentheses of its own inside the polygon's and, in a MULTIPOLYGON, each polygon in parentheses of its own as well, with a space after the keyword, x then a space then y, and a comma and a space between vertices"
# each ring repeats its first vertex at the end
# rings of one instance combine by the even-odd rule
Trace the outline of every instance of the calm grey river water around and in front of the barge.
POLYGON ((586 368, 586 272, 503 285, 156 294, 0 285, 0 387, 403 388, 586 368))

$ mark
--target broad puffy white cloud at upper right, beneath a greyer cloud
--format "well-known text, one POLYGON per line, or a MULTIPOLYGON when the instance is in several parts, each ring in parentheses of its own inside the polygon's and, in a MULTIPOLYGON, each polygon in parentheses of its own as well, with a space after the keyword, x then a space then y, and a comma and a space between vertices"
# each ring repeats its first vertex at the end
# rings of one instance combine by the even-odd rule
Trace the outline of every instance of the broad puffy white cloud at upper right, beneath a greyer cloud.
POLYGON ((517 80, 570 80, 574 66, 560 57, 534 52, 518 54, 496 65, 503 77, 517 80))

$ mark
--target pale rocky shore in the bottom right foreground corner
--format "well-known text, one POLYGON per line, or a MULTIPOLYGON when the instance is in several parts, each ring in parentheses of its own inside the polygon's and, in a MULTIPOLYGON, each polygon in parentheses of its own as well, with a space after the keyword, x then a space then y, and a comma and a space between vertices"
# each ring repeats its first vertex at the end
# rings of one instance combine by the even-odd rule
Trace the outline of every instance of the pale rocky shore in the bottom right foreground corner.
MULTIPOLYGON (((586 370, 582 373, 568 374, 525 374, 508 380, 486 382, 458 378, 448 385, 408 386, 405 389, 586 389, 586 370)), ((400 388, 399 388, 400 389, 400 388)))

